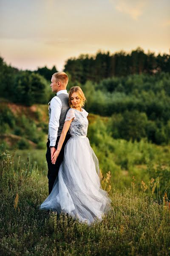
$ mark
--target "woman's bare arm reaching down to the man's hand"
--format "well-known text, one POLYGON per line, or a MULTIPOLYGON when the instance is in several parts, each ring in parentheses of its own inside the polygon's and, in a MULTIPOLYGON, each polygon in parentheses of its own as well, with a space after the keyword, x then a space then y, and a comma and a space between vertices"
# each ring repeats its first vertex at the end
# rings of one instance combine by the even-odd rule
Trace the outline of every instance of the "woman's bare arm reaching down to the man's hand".
POLYGON ((58 142, 58 145, 57 145, 57 150, 54 152, 53 156, 52 156, 52 161, 51 163, 55 164, 56 163, 56 160, 57 160, 57 157, 59 155, 59 152, 61 151, 61 148, 62 148, 62 144, 64 143, 64 140, 65 140, 65 136, 68 132, 68 129, 71 125, 71 122, 73 121, 74 118, 72 118, 71 120, 69 121, 65 121, 64 123, 64 126, 62 128, 62 133, 61 133, 61 136, 59 138, 59 142, 58 142))

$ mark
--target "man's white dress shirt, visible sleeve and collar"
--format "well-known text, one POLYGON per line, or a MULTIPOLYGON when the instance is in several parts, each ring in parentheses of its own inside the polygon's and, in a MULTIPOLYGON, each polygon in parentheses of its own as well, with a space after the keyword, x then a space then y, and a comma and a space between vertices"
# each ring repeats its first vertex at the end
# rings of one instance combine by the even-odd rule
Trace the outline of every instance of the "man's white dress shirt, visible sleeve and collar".
MULTIPOLYGON (((67 90, 60 90, 57 95, 60 93, 67 93, 67 90)), ((50 133, 50 146, 56 145, 58 128, 59 128, 59 118, 61 115, 62 102, 59 97, 54 96, 50 102, 51 116, 49 121, 49 133, 50 133)))

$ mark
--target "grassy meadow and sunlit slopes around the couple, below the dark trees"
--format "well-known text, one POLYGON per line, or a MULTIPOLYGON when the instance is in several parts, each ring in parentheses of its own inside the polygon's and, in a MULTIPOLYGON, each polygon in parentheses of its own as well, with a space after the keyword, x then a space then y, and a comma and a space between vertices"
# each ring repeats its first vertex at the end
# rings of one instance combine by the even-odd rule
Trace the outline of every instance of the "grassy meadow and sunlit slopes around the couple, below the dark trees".
POLYGON ((109 118, 89 114, 88 137, 112 210, 88 227, 39 210, 48 195, 48 105, 3 101, 0 110, 2 256, 170 255, 170 146, 115 140, 109 118))

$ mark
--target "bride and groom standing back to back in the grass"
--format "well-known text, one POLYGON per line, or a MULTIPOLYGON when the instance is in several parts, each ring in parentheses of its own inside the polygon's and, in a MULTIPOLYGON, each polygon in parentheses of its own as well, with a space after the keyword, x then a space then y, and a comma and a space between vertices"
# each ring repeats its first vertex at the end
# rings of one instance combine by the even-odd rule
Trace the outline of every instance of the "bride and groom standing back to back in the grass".
POLYGON ((102 220, 111 200, 99 179, 99 162, 86 137, 88 112, 85 95, 78 86, 67 93, 68 76, 57 72, 51 89, 57 93, 49 102, 46 160, 49 195, 40 209, 65 212, 79 222, 102 220))

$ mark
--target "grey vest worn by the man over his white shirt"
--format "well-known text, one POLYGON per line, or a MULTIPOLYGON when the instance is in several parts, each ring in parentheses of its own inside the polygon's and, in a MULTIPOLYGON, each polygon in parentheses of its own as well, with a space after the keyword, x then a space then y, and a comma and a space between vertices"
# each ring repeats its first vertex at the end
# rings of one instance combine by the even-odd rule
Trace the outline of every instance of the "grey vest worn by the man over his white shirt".
MULTIPOLYGON (((68 94, 60 93, 59 95, 57 95, 57 97, 59 97, 59 99, 61 100, 61 103, 62 103, 61 115, 59 118, 59 128, 58 128, 58 134, 57 134, 57 136, 60 136, 61 132, 62 132, 63 125, 64 125, 65 116, 69 109, 68 94)), ((50 105, 50 102, 48 104, 50 105)), ((50 121, 51 108, 49 108, 49 110, 48 110, 48 115, 49 115, 49 121, 50 121)), ((50 133, 49 133, 49 126, 48 126, 48 140, 49 139, 50 139, 50 133)))

